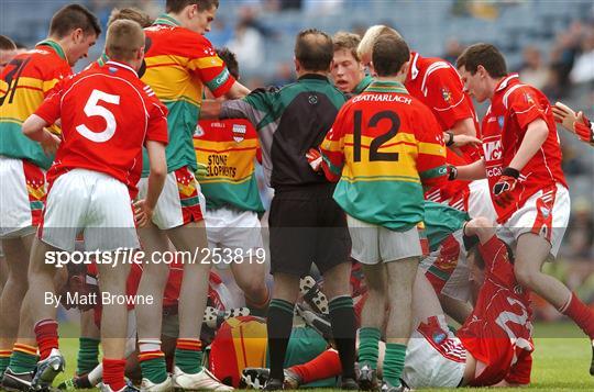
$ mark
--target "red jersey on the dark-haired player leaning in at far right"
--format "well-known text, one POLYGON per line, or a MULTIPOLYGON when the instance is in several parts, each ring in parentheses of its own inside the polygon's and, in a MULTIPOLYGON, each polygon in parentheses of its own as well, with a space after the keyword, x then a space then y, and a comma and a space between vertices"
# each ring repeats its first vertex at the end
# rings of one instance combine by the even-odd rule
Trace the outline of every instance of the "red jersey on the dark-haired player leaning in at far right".
POLYGON ((503 168, 509 166, 514 159, 528 125, 538 119, 547 123, 549 135, 520 170, 519 181, 512 192, 515 202, 505 208, 494 203, 499 223, 506 222, 526 200, 541 189, 556 183, 566 187, 561 170, 557 125, 547 97, 538 89, 522 85, 517 74, 503 79, 495 90, 482 126, 483 158, 491 190, 499 179, 503 168))

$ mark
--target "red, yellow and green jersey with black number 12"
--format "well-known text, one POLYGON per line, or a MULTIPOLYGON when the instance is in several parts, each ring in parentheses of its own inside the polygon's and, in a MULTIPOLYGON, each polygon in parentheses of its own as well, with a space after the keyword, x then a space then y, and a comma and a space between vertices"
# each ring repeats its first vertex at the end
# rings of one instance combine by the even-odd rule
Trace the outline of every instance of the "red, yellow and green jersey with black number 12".
POLYGON ((422 221, 422 184, 433 175, 442 177, 444 163, 441 131, 430 110, 400 83, 374 82, 343 107, 334 131, 344 146, 334 193, 339 204, 354 217, 393 229, 422 221))

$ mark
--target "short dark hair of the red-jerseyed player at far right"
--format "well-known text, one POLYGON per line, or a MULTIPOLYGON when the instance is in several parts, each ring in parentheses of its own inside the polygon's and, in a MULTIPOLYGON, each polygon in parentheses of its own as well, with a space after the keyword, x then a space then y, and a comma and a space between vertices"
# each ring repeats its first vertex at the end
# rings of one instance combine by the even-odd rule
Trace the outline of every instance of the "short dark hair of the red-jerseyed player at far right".
POLYGON ((455 67, 464 67, 471 75, 476 74, 479 66, 483 66, 492 78, 507 75, 507 65, 502 53, 491 44, 474 44, 458 57, 455 67))

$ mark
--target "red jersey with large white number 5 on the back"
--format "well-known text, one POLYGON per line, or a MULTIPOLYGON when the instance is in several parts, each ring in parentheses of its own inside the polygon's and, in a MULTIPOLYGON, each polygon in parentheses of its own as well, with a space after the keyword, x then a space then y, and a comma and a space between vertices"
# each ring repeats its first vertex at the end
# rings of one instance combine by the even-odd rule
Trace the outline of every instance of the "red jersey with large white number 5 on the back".
POLYGON ((167 109, 132 68, 116 61, 65 80, 35 114, 51 124, 62 119, 50 183, 70 169, 95 170, 127 184, 134 198, 143 144, 167 144, 167 109))

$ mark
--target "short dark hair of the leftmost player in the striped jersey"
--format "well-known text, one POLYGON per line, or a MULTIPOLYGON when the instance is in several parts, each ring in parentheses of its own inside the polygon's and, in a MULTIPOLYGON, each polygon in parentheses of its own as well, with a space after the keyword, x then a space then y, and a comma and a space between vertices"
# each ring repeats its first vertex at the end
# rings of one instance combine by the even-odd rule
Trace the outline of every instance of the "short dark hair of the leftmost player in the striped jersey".
POLYGON ((84 5, 69 4, 63 7, 52 18, 50 35, 62 38, 76 29, 81 29, 86 35, 92 33, 99 36, 101 34, 101 26, 96 15, 84 5))

